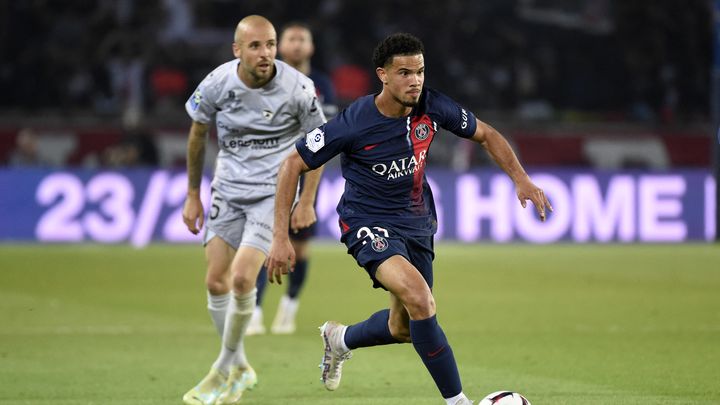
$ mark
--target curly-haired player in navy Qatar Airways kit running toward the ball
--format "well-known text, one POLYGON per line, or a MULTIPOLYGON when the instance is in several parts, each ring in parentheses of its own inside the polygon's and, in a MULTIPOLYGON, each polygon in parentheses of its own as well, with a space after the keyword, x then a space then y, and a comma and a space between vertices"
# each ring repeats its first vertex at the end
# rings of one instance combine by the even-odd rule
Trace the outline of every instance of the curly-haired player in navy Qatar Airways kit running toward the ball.
POLYGON ((346 180, 337 207, 341 240, 374 287, 390 292, 390 308, 354 325, 329 321, 321 326, 325 387, 338 388, 351 349, 412 342, 445 401, 471 404, 432 295, 437 222, 424 170, 438 128, 481 144, 513 180, 523 207, 532 201, 542 220, 552 207, 502 135, 449 97, 423 88, 423 52, 422 42, 410 34, 387 37, 373 54, 382 91, 358 99, 295 144, 278 175, 266 266, 277 282, 292 267, 287 225, 299 175, 341 154, 346 180))

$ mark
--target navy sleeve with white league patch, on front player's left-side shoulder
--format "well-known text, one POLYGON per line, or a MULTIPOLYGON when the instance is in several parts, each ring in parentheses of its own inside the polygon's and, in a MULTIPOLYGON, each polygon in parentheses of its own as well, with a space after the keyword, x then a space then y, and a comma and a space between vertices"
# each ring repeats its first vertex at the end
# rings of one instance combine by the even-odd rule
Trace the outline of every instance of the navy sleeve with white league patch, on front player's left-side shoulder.
POLYGON ((300 157, 310 169, 317 169, 328 160, 347 150, 352 143, 349 126, 344 123, 344 114, 331 119, 308 132, 295 143, 300 157))

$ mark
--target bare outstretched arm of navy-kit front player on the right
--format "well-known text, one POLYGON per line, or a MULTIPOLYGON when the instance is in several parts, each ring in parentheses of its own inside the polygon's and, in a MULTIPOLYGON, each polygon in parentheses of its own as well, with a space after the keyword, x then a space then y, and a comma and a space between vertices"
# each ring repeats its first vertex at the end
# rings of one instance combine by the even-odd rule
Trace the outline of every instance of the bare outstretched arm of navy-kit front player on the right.
POLYGON ((482 145, 495 163, 510 176, 515 183, 517 197, 523 208, 526 207, 527 200, 532 201, 540 219, 545 221, 545 208, 547 207, 550 212, 553 210, 545 192, 530 180, 530 176, 523 169, 505 137, 492 126, 478 119, 476 121, 477 128, 470 139, 482 145))

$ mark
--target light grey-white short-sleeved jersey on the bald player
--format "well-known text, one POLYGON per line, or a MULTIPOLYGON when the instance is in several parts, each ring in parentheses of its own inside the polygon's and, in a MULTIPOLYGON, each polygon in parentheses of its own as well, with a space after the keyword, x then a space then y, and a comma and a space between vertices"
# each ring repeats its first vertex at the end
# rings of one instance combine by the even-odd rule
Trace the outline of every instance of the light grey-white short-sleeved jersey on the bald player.
POLYGON ((218 66, 185 103, 190 118, 215 120, 219 152, 212 186, 225 198, 274 195, 280 164, 298 138, 325 123, 315 86, 275 60, 276 74, 259 89, 238 76, 239 60, 218 66))

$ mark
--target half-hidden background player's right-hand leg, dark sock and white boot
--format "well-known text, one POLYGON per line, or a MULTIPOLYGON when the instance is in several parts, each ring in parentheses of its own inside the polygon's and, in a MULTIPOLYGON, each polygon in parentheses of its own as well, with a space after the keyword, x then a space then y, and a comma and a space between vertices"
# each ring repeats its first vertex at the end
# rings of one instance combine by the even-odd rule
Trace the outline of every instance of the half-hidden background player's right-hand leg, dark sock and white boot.
POLYGON ((275 318, 270 327, 270 331, 276 335, 295 333, 295 317, 300 306, 300 291, 307 278, 309 240, 292 238, 290 242, 295 249, 295 268, 288 275, 287 293, 280 298, 275 318))

